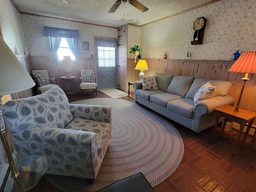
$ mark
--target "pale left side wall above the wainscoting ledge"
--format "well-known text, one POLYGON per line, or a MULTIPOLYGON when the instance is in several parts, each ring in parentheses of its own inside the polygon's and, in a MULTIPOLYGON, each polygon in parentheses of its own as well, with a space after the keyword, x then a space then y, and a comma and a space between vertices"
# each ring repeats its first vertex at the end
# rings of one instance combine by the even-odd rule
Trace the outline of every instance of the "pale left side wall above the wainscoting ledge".
POLYGON ((0 0, 0 25, 4 41, 14 51, 16 45, 18 52, 24 54, 24 38, 20 24, 20 14, 10 0, 0 0))

